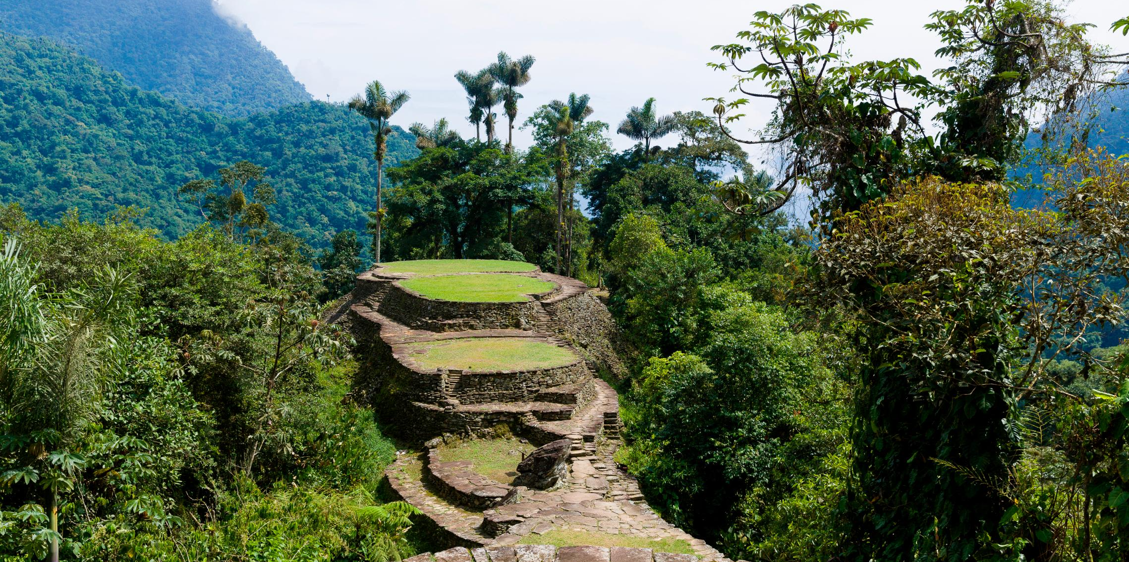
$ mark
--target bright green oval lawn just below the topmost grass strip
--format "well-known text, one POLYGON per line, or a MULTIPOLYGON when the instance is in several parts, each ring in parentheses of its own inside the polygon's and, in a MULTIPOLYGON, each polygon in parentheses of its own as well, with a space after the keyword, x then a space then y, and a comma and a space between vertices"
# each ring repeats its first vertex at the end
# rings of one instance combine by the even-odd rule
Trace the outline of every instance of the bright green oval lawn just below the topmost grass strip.
POLYGON ((549 281, 506 273, 436 275, 400 283, 427 298, 463 302, 520 302, 530 300, 528 295, 555 287, 549 281))

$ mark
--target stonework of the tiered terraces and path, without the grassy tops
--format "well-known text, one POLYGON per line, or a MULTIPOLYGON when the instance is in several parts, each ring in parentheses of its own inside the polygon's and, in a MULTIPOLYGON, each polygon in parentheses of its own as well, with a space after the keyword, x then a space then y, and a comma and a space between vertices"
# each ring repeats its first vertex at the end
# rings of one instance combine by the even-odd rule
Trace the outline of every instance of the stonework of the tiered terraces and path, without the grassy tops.
POLYGON ((397 281, 411 274, 377 269, 359 275, 357 289, 329 316, 357 335, 358 349, 367 355, 361 372, 367 378, 361 380, 371 386, 367 392, 377 412, 402 429, 402 437, 414 442, 475 438, 501 424, 534 445, 572 444, 567 482, 548 491, 482 477, 471 463, 438 462, 427 447, 400 451, 386 471, 392 489, 432 519, 447 534, 445 542, 463 546, 412 562, 695 560, 649 548, 509 547, 554 529, 619 535, 631 544, 684 541, 703 562, 725 561, 655 513, 636 480, 612 459, 620 444, 619 397, 595 376, 596 368, 620 369, 609 334, 601 333, 614 326, 606 309, 575 279, 523 274, 557 287, 527 302, 448 302, 403 289, 397 281), (569 349, 578 359, 551 369, 426 371, 406 350, 409 343, 499 336, 535 337, 569 349))

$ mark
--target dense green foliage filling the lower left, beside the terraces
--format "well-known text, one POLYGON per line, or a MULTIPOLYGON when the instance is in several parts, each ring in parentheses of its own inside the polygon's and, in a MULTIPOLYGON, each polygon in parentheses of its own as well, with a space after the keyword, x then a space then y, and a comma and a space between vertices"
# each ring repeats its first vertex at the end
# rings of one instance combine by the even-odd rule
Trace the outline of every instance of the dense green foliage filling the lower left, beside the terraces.
POLYGON ((394 449, 349 398, 348 342, 316 322, 321 279, 298 240, 201 227, 168 243, 128 213, 40 225, 16 207, 0 228, 21 247, 0 260, 0 307, 29 318, 0 352, 0 559, 38 560, 60 536, 64 560, 411 552, 411 509, 375 499, 394 449), (82 377, 28 384, 64 372, 82 377))

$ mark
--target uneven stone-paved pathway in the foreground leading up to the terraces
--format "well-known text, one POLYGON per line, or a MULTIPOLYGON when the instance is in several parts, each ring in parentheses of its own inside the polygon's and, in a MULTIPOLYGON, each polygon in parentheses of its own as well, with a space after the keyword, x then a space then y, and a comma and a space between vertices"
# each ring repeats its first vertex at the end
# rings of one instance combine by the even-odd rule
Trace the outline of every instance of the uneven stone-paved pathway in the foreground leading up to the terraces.
POLYGON ((647 506, 634 477, 620 471, 612 460, 618 440, 601 438, 587 445, 592 456, 572 459, 564 486, 553 491, 526 490, 516 503, 485 511, 457 508, 431 492, 419 476, 426 469, 422 455, 400 455, 387 475, 401 497, 472 544, 505 546, 530 534, 579 530, 681 539, 689 543, 703 562, 728 562, 704 541, 666 523, 647 506), (497 537, 492 536, 495 534, 497 537))

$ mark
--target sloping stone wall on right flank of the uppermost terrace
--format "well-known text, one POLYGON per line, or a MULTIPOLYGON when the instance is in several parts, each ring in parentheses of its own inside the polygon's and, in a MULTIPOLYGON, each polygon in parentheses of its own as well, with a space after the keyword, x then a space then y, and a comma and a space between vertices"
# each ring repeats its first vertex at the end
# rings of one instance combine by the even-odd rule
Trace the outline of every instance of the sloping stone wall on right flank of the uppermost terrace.
POLYGON ((615 378, 627 375, 620 360, 623 337, 607 307, 592 291, 542 301, 555 320, 559 334, 571 343, 596 368, 615 378))

